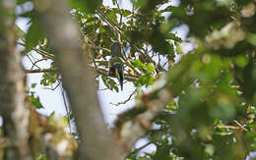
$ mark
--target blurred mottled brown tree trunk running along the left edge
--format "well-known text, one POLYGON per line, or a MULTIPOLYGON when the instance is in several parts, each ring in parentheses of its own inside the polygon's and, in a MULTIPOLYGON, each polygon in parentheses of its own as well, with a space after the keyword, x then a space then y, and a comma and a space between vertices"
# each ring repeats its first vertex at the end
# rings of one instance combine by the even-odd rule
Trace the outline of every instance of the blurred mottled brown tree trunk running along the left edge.
POLYGON ((8 139, 5 160, 31 160, 28 145, 29 110, 25 106, 21 54, 16 50, 15 1, 0 1, 0 115, 8 139))

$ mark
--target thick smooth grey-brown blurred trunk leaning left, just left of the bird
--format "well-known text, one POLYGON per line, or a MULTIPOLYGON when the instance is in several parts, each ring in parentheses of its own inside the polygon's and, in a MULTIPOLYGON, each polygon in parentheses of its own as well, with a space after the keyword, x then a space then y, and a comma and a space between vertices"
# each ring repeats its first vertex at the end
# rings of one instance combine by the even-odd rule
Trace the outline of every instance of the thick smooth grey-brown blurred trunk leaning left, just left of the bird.
POLYGON ((66 1, 49 2, 39 15, 48 38, 53 41, 56 63, 75 115, 80 136, 76 159, 124 159, 123 151, 104 123, 96 98, 96 82, 88 68, 88 54, 83 54, 79 41, 79 27, 72 21, 66 1))

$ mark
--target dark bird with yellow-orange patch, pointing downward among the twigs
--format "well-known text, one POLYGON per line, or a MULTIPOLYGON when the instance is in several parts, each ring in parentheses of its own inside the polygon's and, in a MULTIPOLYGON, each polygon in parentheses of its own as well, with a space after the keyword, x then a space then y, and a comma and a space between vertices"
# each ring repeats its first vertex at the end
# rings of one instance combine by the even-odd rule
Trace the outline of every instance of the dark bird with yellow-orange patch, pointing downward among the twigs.
POLYGON ((109 76, 116 78, 123 90, 123 80, 124 80, 124 67, 123 61, 121 60, 121 44, 119 42, 113 42, 110 48, 111 57, 109 59, 109 76))

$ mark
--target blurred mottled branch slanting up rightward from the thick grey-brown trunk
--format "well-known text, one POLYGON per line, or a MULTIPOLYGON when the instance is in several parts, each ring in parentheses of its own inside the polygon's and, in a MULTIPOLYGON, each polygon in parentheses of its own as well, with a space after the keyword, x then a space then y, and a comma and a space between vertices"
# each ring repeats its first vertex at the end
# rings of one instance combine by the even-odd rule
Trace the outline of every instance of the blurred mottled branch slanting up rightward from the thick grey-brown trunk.
POLYGON ((162 80, 165 78, 160 77, 155 81, 152 86, 154 89, 144 94, 136 107, 119 115, 115 122, 116 128, 113 129, 113 132, 116 133, 118 142, 127 152, 130 152, 138 138, 150 130, 154 118, 172 100, 170 89, 160 87, 162 80))

